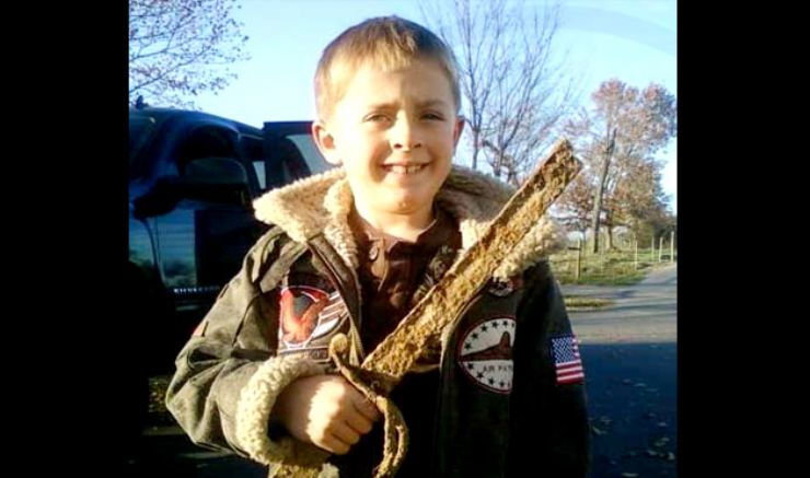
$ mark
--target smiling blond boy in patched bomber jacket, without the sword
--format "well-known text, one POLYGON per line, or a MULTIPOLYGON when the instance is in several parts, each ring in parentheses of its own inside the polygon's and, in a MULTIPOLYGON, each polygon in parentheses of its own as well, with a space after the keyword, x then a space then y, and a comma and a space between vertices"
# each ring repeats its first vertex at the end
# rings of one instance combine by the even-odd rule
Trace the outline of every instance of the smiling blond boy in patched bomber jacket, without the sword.
MULTIPOLYGON (((380 412, 342 375, 385 338, 470 247, 512 189, 453 166, 463 127, 452 53, 392 18, 335 38, 315 73, 312 133, 342 167, 259 198, 274 226, 245 257, 181 352, 166 401, 199 444, 270 465, 302 443, 324 469, 371 476, 380 412)), ((452 330, 391 394, 410 441, 397 476, 585 476, 583 375, 563 298, 543 256, 560 240, 541 221, 452 330), (575 362, 560 373, 563 354, 575 362)))

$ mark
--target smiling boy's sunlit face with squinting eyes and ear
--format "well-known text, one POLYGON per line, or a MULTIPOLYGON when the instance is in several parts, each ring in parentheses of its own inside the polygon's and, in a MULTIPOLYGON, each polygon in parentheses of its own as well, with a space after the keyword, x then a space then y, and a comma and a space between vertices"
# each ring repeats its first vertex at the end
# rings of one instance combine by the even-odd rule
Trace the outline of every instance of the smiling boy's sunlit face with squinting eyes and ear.
POLYGON ((326 160, 344 165, 358 211, 373 223, 430 215, 463 125, 450 81, 425 60, 393 72, 364 65, 312 131, 326 160))

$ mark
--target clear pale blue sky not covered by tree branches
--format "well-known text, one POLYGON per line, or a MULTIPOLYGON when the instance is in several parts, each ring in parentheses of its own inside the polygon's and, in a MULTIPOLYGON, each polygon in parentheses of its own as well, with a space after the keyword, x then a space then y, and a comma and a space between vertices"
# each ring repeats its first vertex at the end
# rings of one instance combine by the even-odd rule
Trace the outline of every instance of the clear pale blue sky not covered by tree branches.
MULTIPOLYGON (((313 119, 312 77, 321 51, 347 27, 370 16, 396 14, 425 23, 416 0, 240 0, 236 20, 250 37, 251 59, 230 67, 238 78, 218 94, 194 98, 197 108, 248 125, 313 119)), ((546 2, 525 0, 528 5, 546 2)), ((662 84, 678 96, 675 0, 562 0, 553 51, 581 81, 582 102, 616 78, 643 89, 662 84)), ((463 113, 463 112, 462 112, 463 113)), ((658 153, 666 161, 664 193, 676 207, 678 141, 658 153)))

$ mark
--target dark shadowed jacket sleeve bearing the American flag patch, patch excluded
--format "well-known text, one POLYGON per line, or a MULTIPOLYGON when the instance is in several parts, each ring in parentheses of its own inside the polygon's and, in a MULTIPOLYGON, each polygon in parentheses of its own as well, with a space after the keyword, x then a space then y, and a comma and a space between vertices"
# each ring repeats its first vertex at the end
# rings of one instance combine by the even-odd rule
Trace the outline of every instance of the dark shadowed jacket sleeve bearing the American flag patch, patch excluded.
POLYGON ((553 351, 552 339, 575 340, 563 294, 547 261, 524 278, 514 343, 508 475, 537 469, 543 476, 583 477, 590 465, 585 378, 558 383, 553 351))

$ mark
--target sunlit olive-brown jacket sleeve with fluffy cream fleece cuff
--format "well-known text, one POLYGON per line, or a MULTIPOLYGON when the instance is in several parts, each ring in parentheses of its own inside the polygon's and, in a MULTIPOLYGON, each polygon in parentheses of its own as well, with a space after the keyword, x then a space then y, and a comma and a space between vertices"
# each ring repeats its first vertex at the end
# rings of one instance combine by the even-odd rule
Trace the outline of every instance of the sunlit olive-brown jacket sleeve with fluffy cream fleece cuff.
POLYGON ((180 352, 166 392, 166 407, 193 442, 265 465, 301 445, 268 436, 276 397, 297 377, 323 373, 308 359, 275 357, 275 285, 305 247, 282 237, 271 229, 247 253, 180 352))

